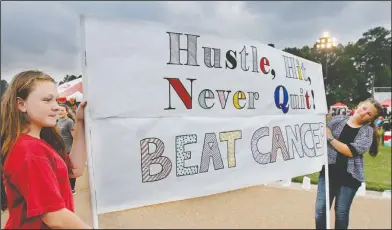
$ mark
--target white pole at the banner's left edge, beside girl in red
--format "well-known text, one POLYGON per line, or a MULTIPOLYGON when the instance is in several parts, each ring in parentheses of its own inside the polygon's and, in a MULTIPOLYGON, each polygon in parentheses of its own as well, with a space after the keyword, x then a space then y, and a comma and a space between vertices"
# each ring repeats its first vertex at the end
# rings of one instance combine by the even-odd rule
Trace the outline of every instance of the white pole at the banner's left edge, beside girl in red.
MULTIPOLYGON (((83 81, 83 98, 86 100, 88 96, 88 77, 87 77, 87 56, 86 56, 86 39, 85 39, 85 22, 84 15, 79 15, 80 19, 80 41, 81 41, 81 67, 82 67, 82 81, 83 81)), ((88 102, 87 102, 88 103, 88 102)), ((90 113, 89 106, 87 105, 84 111, 85 121, 85 138, 86 138, 86 151, 87 151, 87 168, 88 168, 88 181, 90 190, 90 205, 91 205, 91 216, 93 220, 93 228, 98 229, 98 212, 97 212, 97 200, 94 184, 94 168, 93 168, 93 156, 91 149, 91 126, 90 126, 90 113)))

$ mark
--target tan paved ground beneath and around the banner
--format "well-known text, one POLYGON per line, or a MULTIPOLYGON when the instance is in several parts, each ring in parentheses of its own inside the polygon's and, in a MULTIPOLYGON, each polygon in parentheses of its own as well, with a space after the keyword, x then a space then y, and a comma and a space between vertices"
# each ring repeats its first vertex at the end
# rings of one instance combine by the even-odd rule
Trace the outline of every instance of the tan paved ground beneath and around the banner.
MULTIPOLYGON (((87 172, 77 180, 76 214, 91 224, 87 172)), ((314 228, 314 189, 257 186, 99 216, 100 228, 314 228)), ((333 209, 332 209, 333 210, 333 209)), ((334 212, 331 212, 331 227, 334 212)), ((1 216, 2 227, 6 214, 1 216)), ((356 196, 350 228, 391 228, 391 200, 356 196)))

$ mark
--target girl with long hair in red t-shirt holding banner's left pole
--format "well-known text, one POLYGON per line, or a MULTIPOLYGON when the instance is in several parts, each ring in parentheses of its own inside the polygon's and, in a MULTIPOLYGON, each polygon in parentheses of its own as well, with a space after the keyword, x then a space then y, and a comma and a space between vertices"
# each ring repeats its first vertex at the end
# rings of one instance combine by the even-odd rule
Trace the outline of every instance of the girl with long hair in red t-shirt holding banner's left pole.
POLYGON ((74 214, 69 177, 86 162, 84 108, 76 112, 68 155, 56 129, 59 110, 55 81, 40 71, 14 77, 1 100, 1 209, 6 229, 91 228, 74 214))

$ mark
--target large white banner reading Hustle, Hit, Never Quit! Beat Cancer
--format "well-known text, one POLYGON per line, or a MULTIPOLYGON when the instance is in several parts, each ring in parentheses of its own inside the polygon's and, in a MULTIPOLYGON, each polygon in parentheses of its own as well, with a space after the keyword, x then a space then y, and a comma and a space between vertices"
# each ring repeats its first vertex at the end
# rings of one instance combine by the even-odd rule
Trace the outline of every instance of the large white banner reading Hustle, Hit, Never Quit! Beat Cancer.
POLYGON ((86 18, 98 213, 321 169, 321 65, 216 32, 86 18))

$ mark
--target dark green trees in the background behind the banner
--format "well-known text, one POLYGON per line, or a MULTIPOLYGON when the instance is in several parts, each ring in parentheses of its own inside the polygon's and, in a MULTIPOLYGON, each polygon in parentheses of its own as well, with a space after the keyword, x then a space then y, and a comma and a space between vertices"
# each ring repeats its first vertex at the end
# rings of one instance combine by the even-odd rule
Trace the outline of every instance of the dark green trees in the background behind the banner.
MULTIPOLYGON (((384 27, 370 29, 358 41, 339 44, 328 51, 317 49, 316 44, 283 51, 321 63, 328 106, 339 101, 353 107, 371 97, 373 87, 391 87, 391 30, 384 27)), ((59 84, 81 77, 67 74, 59 84)), ((7 86, 1 80, 1 95, 7 86)))

